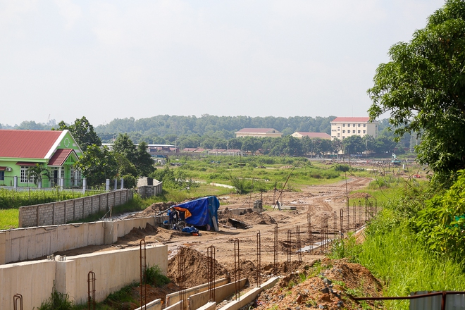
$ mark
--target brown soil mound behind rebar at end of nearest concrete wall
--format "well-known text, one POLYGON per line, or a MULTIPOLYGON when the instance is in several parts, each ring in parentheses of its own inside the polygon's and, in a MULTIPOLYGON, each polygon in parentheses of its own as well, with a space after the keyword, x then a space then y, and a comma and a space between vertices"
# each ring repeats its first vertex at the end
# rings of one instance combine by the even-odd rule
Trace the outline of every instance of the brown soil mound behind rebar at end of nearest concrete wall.
MULTIPOLYGON (((208 258, 194 249, 185 247, 185 283, 186 287, 193 287, 208 283, 208 258)), ((215 279, 229 278, 228 271, 215 260, 215 279)), ((179 256, 176 254, 168 261, 168 278, 179 284, 179 256)))

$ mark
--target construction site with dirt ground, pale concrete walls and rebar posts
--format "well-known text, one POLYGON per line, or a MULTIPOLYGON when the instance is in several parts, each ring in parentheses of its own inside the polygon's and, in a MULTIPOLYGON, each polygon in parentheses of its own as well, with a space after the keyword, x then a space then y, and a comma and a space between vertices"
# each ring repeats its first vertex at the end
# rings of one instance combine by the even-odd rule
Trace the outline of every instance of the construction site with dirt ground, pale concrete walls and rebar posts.
POLYGON ((4 230, 0 307, 37 309, 53 289, 95 309, 111 292, 142 283, 132 289, 137 302, 113 309, 359 309, 347 291, 380 296, 382 286, 363 266, 325 252, 349 233, 363 240, 378 204, 363 191, 348 193, 369 182, 218 197, 218 227, 199 233, 163 225, 170 202, 112 221, 4 230), (172 282, 144 285, 150 265, 172 282))

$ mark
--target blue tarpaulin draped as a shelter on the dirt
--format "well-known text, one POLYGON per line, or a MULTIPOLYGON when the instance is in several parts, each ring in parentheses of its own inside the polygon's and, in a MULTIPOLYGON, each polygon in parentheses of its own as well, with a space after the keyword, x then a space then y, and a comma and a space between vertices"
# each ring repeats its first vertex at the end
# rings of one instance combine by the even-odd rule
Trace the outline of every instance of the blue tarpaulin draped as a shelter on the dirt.
POLYGON ((185 222, 189 225, 210 225, 212 229, 218 227, 218 208, 220 207, 220 201, 215 196, 183 202, 182 204, 176 204, 175 207, 187 209, 192 213, 191 216, 185 219, 185 222), (213 225, 213 218, 215 219, 215 225, 213 225))

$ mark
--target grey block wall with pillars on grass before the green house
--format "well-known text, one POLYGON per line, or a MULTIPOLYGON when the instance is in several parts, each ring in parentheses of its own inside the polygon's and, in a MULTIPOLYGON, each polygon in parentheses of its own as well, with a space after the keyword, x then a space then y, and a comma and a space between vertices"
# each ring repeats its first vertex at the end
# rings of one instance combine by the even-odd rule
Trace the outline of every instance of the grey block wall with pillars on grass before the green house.
POLYGON ((65 202, 21 206, 19 209, 19 227, 57 225, 69 221, 78 221, 92 213, 106 211, 113 206, 124 204, 130 199, 132 199, 132 191, 123 189, 70 199, 65 202))

